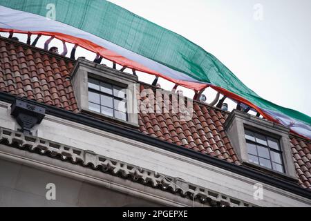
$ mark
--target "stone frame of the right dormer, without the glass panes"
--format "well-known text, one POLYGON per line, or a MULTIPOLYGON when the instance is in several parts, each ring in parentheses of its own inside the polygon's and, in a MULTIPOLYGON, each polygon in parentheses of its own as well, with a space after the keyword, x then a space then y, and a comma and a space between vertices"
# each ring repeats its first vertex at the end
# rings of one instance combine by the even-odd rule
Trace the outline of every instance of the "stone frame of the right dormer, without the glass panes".
POLYGON ((249 115, 242 111, 234 110, 226 119, 225 131, 242 164, 245 166, 251 166, 264 173, 285 177, 290 180, 297 180, 294 161, 292 160, 289 128, 267 121, 266 119, 249 115), (283 173, 261 166, 249 160, 245 130, 278 140, 283 161, 283 173))

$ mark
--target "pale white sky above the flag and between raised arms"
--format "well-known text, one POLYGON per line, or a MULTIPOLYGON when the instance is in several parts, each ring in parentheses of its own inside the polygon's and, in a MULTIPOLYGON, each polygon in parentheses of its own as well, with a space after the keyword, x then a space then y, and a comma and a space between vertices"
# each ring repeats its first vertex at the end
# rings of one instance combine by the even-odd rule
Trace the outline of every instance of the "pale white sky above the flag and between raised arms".
MULTIPOLYGON (((211 52, 261 97, 311 115, 310 0, 110 1, 211 52), (258 3, 263 9, 262 17, 256 14, 259 20, 254 19, 254 13, 259 12, 254 9, 258 3)), ((26 41, 25 35, 15 36, 26 41)), ((37 46, 42 47, 45 39, 42 37, 37 46)), ((52 45, 62 52, 60 41, 54 40, 52 45)), ((67 45, 70 56, 72 45, 67 45)), ((95 54, 78 48, 76 57, 79 56, 93 59, 95 54)), ((154 79, 147 74, 138 76, 148 83, 154 79)), ((160 84, 168 90, 173 87, 162 79, 160 84)), ((183 90, 189 97, 194 94, 183 90)), ((205 94, 208 101, 214 99, 211 89, 205 94)), ((229 103, 229 109, 234 107, 229 103)))

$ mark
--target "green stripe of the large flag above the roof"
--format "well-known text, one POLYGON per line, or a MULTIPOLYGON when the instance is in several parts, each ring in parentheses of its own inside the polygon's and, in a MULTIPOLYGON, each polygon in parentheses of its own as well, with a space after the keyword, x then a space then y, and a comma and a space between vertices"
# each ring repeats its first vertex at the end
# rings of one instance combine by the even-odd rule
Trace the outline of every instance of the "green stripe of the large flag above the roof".
POLYGON ((283 113, 311 126, 311 117, 259 97, 216 57, 200 46, 109 1, 10 0, 0 2, 1 6, 44 17, 48 12, 46 6, 51 4, 56 6, 55 15, 59 22, 111 41, 196 80, 225 88, 260 108, 283 113))

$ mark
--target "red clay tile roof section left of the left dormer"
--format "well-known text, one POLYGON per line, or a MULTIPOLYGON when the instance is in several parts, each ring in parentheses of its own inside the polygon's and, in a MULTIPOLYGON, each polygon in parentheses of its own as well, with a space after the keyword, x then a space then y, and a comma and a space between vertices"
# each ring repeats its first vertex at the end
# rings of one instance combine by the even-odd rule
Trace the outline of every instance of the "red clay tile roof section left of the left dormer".
POLYGON ((78 112, 68 59, 1 39, 0 61, 0 91, 78 112))

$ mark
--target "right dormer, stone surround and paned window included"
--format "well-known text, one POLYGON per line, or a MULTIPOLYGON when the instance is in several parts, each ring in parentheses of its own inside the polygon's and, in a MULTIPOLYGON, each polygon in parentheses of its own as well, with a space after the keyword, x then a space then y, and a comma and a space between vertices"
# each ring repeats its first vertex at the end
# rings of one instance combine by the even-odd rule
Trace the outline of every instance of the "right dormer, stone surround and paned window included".
POLYGON ((245 166, 296 180, 289 128, 234 110, 226 119, 225 130, 245 166))

